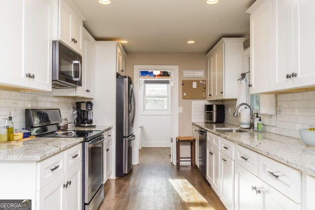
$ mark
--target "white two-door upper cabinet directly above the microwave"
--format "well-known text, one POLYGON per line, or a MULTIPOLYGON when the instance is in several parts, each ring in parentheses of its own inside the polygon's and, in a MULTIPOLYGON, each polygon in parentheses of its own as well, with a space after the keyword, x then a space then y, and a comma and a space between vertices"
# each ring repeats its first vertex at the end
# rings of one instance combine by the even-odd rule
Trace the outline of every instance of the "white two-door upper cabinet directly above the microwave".
POLYGON ((83 20, 79 18, 65 0, 59 1, 59 11, 58 39, 82 55, 83 20))

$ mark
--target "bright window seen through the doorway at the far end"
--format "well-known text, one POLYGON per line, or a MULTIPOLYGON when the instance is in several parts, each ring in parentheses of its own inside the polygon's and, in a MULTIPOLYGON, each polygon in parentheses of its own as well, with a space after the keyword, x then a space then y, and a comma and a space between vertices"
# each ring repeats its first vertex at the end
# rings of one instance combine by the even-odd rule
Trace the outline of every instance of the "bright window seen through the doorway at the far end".
POLYGON ((168 81, 145 81, 144 110, 166 111, 169 106, 168 81))

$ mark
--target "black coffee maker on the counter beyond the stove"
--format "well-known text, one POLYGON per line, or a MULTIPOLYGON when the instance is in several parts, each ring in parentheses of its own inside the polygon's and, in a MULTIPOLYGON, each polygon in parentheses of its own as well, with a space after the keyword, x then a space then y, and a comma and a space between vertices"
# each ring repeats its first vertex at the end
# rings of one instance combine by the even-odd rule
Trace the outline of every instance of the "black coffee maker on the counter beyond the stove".
POLYGON ((75 126, 77 127, 94 127, 93 125, 93 103, 91 101, 76 102, 77 116, 75 126))

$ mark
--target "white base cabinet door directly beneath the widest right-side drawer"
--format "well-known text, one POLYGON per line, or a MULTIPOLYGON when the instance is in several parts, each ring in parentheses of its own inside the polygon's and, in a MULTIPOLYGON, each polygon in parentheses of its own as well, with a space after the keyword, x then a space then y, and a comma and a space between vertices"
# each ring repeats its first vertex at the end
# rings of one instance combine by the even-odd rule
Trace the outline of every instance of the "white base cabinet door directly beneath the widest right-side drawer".
MULTIPOLYGON (((300 210, 301 205, 294 203, 284 194, 274 189, 266 182, 258 179, 257 186, 259 210, 300 210)), ((312 208, 314 209, 314 208, 312 208)))

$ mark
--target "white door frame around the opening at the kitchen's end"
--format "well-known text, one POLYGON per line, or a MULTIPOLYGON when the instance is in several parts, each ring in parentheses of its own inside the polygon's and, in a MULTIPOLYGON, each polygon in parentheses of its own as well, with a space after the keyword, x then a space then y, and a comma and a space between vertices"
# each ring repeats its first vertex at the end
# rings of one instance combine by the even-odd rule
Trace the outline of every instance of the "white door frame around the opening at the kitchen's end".
MULTIPOLYGON (((173 87, 173 94, 172 94, 172 112, 171 112, 171 119, 172 119, 172 138, 173 142, 171 143, 171 162, 173 165, 176 165, 176 137, 178 136, 178 105, 179 105, 179 66, 178 65, 134 65, 133 67, 133 87, 134 90, 139 89, 139 71, 146 71, 146 70, 159 70, 159 71, 172 71, 172 87, 173 87)), ((139 91, 134 91, 135 100, 139 100, 139 91)), ((135 131, 135 140, 133 141, 133 153, 132 153, 132 164, 138 165, 139 164, 139 122, 138 122, 138 108, 139 106, 136 105, 136 115, 134 120, 134 131, 135 131), (136 129, 135 129, 136 128, 136 129)))

